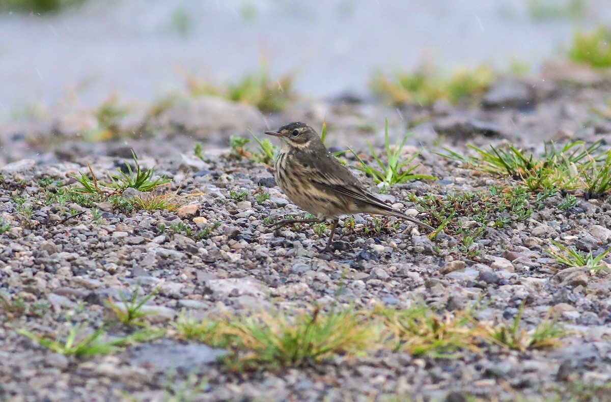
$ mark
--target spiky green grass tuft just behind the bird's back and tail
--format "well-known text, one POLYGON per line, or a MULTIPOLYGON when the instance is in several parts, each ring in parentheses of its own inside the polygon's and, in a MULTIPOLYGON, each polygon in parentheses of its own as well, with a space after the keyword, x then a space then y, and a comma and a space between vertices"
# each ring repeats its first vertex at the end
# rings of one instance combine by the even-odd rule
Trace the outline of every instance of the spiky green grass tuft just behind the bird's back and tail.
POLYGON ((388 119, 386 119, 386 126, 384 128, 384 144, 386 145, 387 159, 386 164, 382 162, 378 155, 376 155, 376 152, 371 144, 367 142, 371 156, 373 156, 373 159, 375 159, 376 163, 378 163, 380 170, 368 166, 356 152, 350 150, 360 164, 360 166, 356 166, 355 169, 364 172, 366 175, 373 178, 373 181, 375 181, 376 184, 384 187, 392 186, 397 183, 405 183, 408 180, 436 180, 436 177, 433 176, 412 174, 418 165, 409 165, 412 164, 414 159, 420 155, 420 152, 415 153, 409 158, 403 159, 402 151, 407 139, 408 136, 404 136, 402 141, 397 140, 395 146, 392 147, 388 139, 388 119))

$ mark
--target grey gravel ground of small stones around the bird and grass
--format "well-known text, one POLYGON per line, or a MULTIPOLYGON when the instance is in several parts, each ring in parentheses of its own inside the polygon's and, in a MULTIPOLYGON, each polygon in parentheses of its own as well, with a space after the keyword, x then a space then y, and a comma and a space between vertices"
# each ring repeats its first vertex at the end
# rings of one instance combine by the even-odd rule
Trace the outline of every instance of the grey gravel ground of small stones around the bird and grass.
MULTIPOLYGON (((461 238, 453 233, 431 241, 428 233, 394 218, 366 233, 365 228, 378 223, 376 217, 356 216, 353 229, 340 224, 334 254, 324 254, 319 249, 329 230, 319 236, 307 225, 277 233, 265 227, 265 217, 302 216, 302 211, 280 192, 268 166, 232 158, 229 148, 219 145, 247 126, 260 132, 265 122, 270 128, 294 120, 320 127, 327 114, 329 142, 336 147, 351 144, 366 150, 369 139, 381 150, 380 129, 387 116, 392 137, 414 127, 407 150, 425 145, 419 169, 439 178, 392 186, 380 195, 413 213, 418 205, 411 194, 442 199, 515 186, 434 153, 444 147, 466 152, 467 143, 510 141, 539 151, 549 139, 611 139, 611 122, 592 112, 604 105, 604 86, 531 82, 501 82, 481 107, 438 103, 431 109, 392 109, 338 98, 302 101, 254 123, 249 120, 253 111, 240 106, 234 119, 218 126, 211 123, 214 115, 198 117, 203 101, 197 100, 161 115, 153 123, 152 138, 93 144, 71 137, 68 128, 50 136, 45 130, 57 128, 62 115, 51 122, 22 123, 21 130, 5 128, 0 290, 12 301, 20 296, 27 308, 4 305, 0 310, 0 400, 590 400, 593 395, 609 400, 611 276, 606 269, 595 276, 583 268, 558 270, 562 266, 545 252, 553 239, 594 254, 606 249, 611 241, 607 197, 577 197, 566 210, 558 208, 560 194, 543 202, 529 197, 525 207, 532 214, 527 219, 509 216, 504 227, 486 229, 471 253, 460 250, 461 238), (177 121, 182 122, 178 128, 172 123, 177 121), (203 143, 203 160, 193 155, 195 142, 203 143), (101 217, 95 219, 91 208, 45 202, 47 192, 75 183, 71 175, 89 172, 88 163, 94 172, 125 166, 131 149, 143 167, 154 166, 156 174, 172 180, 172 191, 185 205, 177 211, 126 214, 102 202, 97 205, 101 217), (45 178, 53 183, 41 181, 45 178), (232 199, 232 191, 246 191, 246 196, 232 199), (268 192, 269 199, 258 203, 258 192, 268 192), (204 228, 211 229, 210 235, 194 235, 204 228), (154 314, 145 320, 168 330, 162 338, 108 356, 76 358, 16 332, 54 338, 69 323, 100 327, 109 315, 104 301, 130 294, 137 283, 142 294, 158 289, 146 305, 154 314), (570 332, 562 344, 546 349, 490 346, 461 351, 452 359, 382 349, 281 373, 240 374, 217 362, 222 351, 185 342, 172 331, 181 311, 203 317, 219 309, 240 313, 255 306, 328 306, 335 298, 364 309, 423 301, 441 311, 467 308, 481 299, 479 319, 509 321, 524 303, 525 329, 542 323, 553 307, 558 323, 570 332), (176 396, 181 392, 182 399, 176 396)), ((218 112, 232 107, 221 105, 218 112)), ((369 178, 360 177, 375 190, 369 178)), ((133 192, 122 195, 130 196, 133 192)), ((457 218, 469 221, 469 216, 457 218)), ((125 336, 125 331, 114 326, 108 336, 125 336)))

